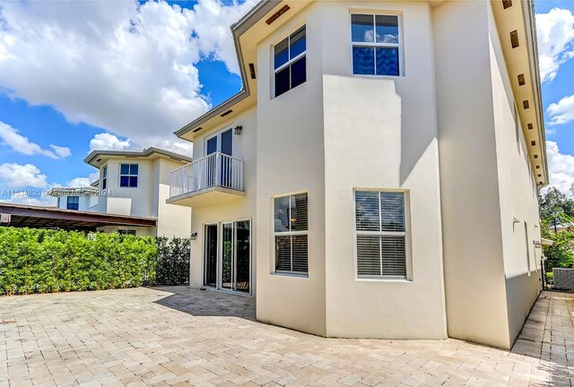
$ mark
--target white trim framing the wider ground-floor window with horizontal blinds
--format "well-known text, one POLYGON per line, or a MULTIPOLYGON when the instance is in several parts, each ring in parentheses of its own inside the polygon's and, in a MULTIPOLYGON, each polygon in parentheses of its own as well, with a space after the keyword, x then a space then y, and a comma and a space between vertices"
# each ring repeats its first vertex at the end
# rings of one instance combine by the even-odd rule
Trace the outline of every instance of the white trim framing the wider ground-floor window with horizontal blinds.
MULTIPOLYGON (((380 222, 380 211, 378 213, 380 222)), ((412 233, 411 233, 411 194, 410 190, 389 189, 389 188, 353 188, 352 190, 352 229, 353 229, 353 255, 354 255, 354 277, 357 281, 382 281, 382 282, 406 282, 411 283, 413 279, 413 262, 412 262, 412 233), (392 231, 357 231, 357 202, 355 200, 355 193, 372 191, 377 193, 404 193, 404 232, 392 231), (364 276, 359 275, 359 253, 357 249, 357 236, 358 235, 388 235, 388 236, 403 236, 404 235, 404 264, 405 264, 405 277, 402 276, 364 276)), ((382 264, 382 262, 381 262, 382 264)), ((382 272, 382 270, 381 270, 382 272)))

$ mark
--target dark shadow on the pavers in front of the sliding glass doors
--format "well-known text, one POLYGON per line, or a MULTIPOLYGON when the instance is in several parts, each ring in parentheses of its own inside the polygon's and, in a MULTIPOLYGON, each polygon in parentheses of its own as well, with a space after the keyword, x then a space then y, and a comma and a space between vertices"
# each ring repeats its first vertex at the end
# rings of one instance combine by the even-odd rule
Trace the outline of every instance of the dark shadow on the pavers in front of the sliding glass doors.
POLYGON ((187 286, 152 288, 171 293, 155 304, 194 316, 227 316, 255 321, 255 298, 187 286))

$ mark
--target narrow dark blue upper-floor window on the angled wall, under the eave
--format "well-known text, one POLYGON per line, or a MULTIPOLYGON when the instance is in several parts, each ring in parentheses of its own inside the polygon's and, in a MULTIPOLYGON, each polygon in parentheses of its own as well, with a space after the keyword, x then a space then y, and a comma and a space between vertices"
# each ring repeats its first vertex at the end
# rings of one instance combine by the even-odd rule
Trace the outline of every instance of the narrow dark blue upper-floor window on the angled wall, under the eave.
POLYGON ((275 97, 307 81, 305 26, 274 47, 275 97))

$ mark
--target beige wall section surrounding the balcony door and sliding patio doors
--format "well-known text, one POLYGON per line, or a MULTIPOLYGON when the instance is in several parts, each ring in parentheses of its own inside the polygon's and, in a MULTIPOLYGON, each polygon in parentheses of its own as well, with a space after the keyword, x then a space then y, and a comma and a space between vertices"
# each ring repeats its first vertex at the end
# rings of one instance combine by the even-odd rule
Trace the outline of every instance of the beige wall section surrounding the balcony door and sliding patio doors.
MULTIPOLYGON (((190 286, 200 288, 203 286, 204 271, 204 225, 208 223, 223 223, 234 220, 251 220, 251 291, 255 294, 255 262, 257 241, 255 234, 256 217, 256 179, 257 179, 257 111, 252 107, 240 115, 219 125, 210 131, 201 133, 194 138, 194 159, 204 156, 204 140, 213 133, 220 132, 237 125, 243 126, 240 135, 233 135, 233 157, 243 160, 243 176, 246 195, 230 198, 228 202, 221 202, 204 207, 195 207, 191 222, 191 232, 197 233, 195 241, 191 242, 190 286)), ((180 207, 178 208, 185 208, 180 207)))

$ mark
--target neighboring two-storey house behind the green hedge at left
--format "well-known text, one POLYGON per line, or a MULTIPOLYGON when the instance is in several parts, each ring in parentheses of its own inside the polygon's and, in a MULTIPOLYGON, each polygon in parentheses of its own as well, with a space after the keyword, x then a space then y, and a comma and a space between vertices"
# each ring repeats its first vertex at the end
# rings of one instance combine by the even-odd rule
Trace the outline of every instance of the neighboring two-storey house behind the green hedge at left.
POLYGON ((168 204, 170 172, 191 161, 167 150, 94 150, 84 161, 100 178, 83 188, 54 188, 58 207, 67 210, 157 219, 156 227, 104 226, 100 231, 137 236, 189 237, 191 209, 168 204))

